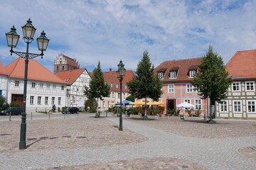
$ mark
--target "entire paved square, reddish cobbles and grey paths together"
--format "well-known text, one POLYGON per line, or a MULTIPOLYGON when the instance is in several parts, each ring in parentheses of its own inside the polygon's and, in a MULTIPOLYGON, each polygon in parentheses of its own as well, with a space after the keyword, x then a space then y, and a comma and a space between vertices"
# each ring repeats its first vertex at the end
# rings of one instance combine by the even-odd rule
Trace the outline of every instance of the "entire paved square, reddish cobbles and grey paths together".
POLYGON ((116 128, 117 118, 27 121, 27 145, 31 146, 24 151, 18 150, 17 143, 20 121, 1 122, 5 128, 0 130, 0 169, 256 166, 255 121, 217 120, 216 124, 206 124, 192 120, 127 120, 122 132, 116 128))

